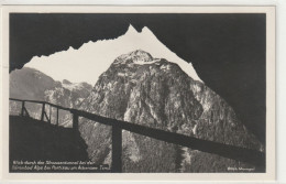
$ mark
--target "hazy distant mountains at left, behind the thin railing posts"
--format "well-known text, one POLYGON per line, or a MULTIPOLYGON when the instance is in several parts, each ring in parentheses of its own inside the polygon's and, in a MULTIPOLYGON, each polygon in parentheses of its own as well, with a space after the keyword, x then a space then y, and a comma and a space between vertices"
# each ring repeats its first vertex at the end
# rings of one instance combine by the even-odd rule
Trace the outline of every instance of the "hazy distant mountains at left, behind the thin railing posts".
MULTIPOLYGON (((42 100, 56 104, 63 107, 78 108, 81 101, 87 98, 92 86, 87 83, 73 84, 68 80, 56 82, 52 77, 40 71, 30 67, 13 71, 10 74, 10 98, 42 100)), ((26 102, 25 107, 35 119, 41 117, 41 105, 26 102)), ((10 101, 10 113, 19 115, 21 104, 10 101)), ((56 112, 54 108, 46 107, 47 115, 55 122, 56 112)), ((70 126, 72 116, 67 111, 61 110, 61 126, 70 126)))

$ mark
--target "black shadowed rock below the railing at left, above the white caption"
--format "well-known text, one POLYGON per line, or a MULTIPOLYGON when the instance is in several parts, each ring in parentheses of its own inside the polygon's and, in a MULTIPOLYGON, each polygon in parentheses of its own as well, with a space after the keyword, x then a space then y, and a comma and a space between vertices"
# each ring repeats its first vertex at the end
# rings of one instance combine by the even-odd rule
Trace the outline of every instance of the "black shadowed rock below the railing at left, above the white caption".
POLYGON ((13 161, 89 161, 78 132, 26 117, 10 116, 9 143, 10 171, 13 161))

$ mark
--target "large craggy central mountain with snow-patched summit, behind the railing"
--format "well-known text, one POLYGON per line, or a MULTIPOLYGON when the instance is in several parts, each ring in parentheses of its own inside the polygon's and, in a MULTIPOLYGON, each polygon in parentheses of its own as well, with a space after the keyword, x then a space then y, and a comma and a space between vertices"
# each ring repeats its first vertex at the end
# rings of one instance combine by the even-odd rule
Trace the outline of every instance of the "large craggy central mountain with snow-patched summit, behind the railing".
MULTIPOLYGON (((134 51, 116 58, 80 109, 215 142, 263 151, 263 145, 237 119, 215 91, 164 58, 134 51)), ((110 163, 110 128, 85 119, 79 125, 89 158, 110 163)), ((251 166, 123 131, 125 172, 228 172, 251 166)))

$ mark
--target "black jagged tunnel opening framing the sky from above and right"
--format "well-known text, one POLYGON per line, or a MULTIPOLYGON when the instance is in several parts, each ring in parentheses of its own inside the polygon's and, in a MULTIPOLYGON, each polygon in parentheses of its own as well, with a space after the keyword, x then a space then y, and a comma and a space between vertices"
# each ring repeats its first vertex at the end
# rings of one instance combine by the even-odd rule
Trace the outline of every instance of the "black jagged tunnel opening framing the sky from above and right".
POLYGON ((240 14, 10 14, 10 72, 33 56, 116 39, 132 24, 147 26, 170 51, 191 62, 207 86, 224 98, 265 143, 266 17, 240 14))

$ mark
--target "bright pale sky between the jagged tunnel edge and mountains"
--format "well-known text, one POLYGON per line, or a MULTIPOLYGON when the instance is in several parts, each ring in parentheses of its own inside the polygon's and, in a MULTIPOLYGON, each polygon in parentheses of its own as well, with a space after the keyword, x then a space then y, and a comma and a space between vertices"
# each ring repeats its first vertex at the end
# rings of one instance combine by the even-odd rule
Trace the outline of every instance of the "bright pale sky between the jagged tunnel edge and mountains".
POLYGON ((135 50, 143 50, 153 57, 176 63, 191 78, 201 82, 191 63, 183 61, 169 51, 146 26, 138 32, 130 25, 123 35, 113 40, 90 41, 78 50, 69 47, 50 56, 34 56, 24 66, 38 69, 55 80, 67 79, 72 83, 86 82, 95 85, 118 56, 135 50))

